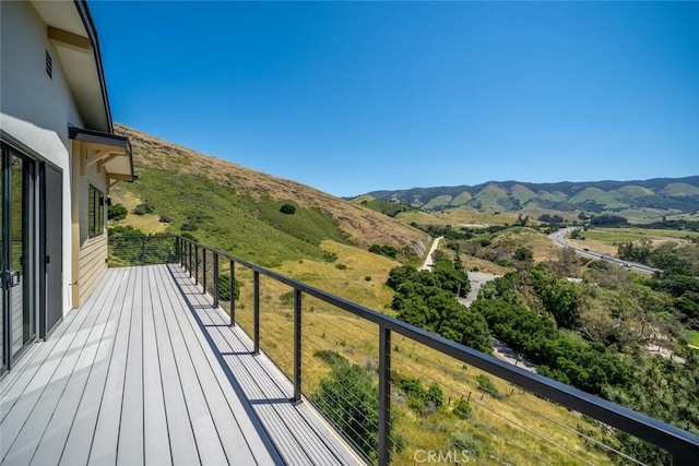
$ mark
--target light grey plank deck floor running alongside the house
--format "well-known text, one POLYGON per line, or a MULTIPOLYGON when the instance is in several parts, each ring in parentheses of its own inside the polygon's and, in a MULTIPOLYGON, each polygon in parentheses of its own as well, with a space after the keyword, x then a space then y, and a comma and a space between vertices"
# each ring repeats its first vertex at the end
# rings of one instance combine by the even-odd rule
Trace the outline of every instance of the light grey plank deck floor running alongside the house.
POLYGON ((0 381, 8 465, 359 464, 176 265, 110 268, 0 381))

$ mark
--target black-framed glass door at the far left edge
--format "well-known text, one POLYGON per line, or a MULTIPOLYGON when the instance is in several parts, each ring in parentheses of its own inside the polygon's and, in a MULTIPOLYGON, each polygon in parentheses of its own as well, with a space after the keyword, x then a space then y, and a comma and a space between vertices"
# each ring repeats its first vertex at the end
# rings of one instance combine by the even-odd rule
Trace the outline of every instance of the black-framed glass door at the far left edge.
POLYGON ((2 151, 3 367, 36 338, 34 162, 2 151), (9 356, 9 357, 8 357, 9 356))

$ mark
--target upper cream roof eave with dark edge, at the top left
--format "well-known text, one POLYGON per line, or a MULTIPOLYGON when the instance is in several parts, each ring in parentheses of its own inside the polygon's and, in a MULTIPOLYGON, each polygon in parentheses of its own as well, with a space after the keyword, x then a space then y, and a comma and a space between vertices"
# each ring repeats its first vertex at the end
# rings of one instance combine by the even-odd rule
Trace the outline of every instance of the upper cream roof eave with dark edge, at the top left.
POLYGON ((47 25, 83 124, 114 132, 97 31, 83 0, 33 1, 47 25))

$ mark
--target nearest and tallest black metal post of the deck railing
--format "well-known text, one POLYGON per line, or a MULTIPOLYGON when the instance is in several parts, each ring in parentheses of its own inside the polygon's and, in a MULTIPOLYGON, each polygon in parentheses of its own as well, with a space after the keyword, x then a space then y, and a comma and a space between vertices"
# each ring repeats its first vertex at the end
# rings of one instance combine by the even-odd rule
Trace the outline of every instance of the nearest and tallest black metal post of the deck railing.
POLYGON ((379 326, 379 465, 391 463, 391 331, 379 326))

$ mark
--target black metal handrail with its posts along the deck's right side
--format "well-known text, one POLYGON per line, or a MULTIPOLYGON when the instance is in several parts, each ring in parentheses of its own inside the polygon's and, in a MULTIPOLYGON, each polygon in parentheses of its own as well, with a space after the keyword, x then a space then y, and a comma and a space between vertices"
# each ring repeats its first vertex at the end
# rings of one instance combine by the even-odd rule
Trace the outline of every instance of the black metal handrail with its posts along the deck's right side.
MULTIPOLYGON (((553 379, 525 371, 522 368, 500 361, 489 355, 477 351, 453 340, 443 338, 437 334, 427 332, 414 325, 406 324, 364 306, 357 304, 344 298, 331 295, 319 288, 309 286, 277 272, 262 267, 252 262, 236 258, 226 252, 200 244, 187 238, 177 237, 175 250, 177 261, 185 266, 190 276, 194 270, 194 279, 199 283, 200 265, 204 266, 203 276, 206 276, 206 260, 199 262, 199 251, 208 251, 213 254, 213 296, 214 306, 218 304, 218 260, 228 260, 230 264, 230 325, 236 324, 235 299, 233 289, 235 284, 235 265, 239 264, 253 272, 253 353, 260 350, 260 275, 283 283, 294 289, 294 401, 301 399, 301 297, 304 294, 324 301, 335 308, 350 312, 360 319, 367 320, 379 327, 379 426, 378 426, 378 452, 377 458, 380 465, 390 462, 390 383, 391 383, 391 336, 396 333, 411 338, 422 345, 455 358, 464 363, 474 366, 483 371, 494 374, 508 382, 517 384, 531 393, 558 403, 565 407, 574 409, 590 416, 608 426, 635 435, 660 446, 673 457, 675 465, 694 465, 699 457, 699 435, 663 422, 650 416, 633 411, 624 406, 582 392, 570 385, 566 385, 553 379), (193 267, 192 267, 193 265, 193 267)), ((205 256, 205 254, 204 254, 205 256)), ((206 290, 206 287, 203 287, 206 290)))

